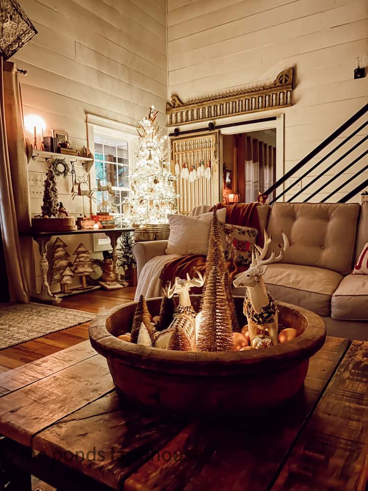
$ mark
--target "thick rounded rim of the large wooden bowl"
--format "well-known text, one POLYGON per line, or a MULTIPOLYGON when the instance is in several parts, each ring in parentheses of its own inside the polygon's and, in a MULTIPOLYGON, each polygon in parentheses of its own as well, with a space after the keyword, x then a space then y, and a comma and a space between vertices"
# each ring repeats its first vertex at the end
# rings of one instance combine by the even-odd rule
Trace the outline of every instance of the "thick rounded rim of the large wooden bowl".
MULTIPOLYGON (((241 298, 241 297, 236 297, 241 298)), ((149 305, 152 300, 147 299, 149 305)), ((159 372, 185 373, 187 375, 227 375, 283 369, 295 360, 304 360, 314 355, 324 343, 326 326, 323 319, 297 305, 287 302, 276 302, 279 307, 298 311, 307 319, 305 331, 291 341, 264 350, 245 350, 241 352, 179 352, 161 348, 147 348, 119 339, 106 328, 108 318, 120 309, 136 305, 136 301, 112 308, 103 315, 98 315, 90 324, 89 337, 92 346, 98 353, 108 359, 119 358, 119 361, 141 369, 159 372)))

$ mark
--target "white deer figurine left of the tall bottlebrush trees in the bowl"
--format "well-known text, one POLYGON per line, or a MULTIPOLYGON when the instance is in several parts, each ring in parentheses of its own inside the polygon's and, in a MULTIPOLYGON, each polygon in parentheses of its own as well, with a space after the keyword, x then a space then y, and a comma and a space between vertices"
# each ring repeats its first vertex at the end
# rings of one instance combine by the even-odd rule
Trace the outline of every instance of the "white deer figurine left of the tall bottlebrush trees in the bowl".
MULTIPOLYGON (((170 282, 167 282, 166 287, 162 288, 162 293, 167 298, 172 298, 175 293, 179 294, 179 305, 174 310, 174 319, 170 326, 158 332, 157 348, 166 348, 170 342, 172 333, 179 329, 181 334, 184 334, 190 343, 191 349, 195 348, 195 322, 194 318, 196 312, 190 303, 189 290, 190 288, 204 285, 206 277, 203 277, 201 273, 197 272, 198 278, 190 278, 187 274, 186 279, 175 278, 175 283, 171 286, 170 282)), ((183 343, 184 345, 185 343, 183 343)))

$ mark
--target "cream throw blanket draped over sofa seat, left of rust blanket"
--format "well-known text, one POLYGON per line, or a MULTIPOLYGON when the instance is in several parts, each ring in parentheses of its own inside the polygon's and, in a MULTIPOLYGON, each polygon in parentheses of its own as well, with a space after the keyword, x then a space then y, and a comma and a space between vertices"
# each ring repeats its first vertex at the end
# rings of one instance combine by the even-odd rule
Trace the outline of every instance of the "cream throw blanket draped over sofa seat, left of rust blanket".
POLYGON ((146 299, 162 297, 160 274, 166 263, 181 257, 180 254, 167 254, 156 256, 147 261, 139 275, 137 289, 135 290, 134 300, 137 301, 140 295, 146 299))

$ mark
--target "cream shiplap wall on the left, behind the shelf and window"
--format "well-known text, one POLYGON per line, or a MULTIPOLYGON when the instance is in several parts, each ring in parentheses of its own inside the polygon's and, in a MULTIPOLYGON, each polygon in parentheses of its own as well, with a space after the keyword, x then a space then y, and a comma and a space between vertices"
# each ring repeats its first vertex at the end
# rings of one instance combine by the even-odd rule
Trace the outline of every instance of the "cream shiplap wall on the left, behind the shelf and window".
MULTIPOLYGON (((20 3, 38 34, 11 60, 28 71, 20 76, 24 113, 41 116, 46 135, 52 128, 65 130, 73 147, 82 148, 87 143, 86 113, 136 125, 152 104, 159 111, 158 122, 166 124, 165 0, 20 3)), ((42 171, 40 165, 31 161, 32 175, 42 171)), ((70 178, 58 181, 65 193, 70 178)), ((72 212, 82 212, 81 197, 73 202, 62 198, 72 212)), ((32 213, 40 203, 40 198, 31 198, 32 213)), ((68 239, 70 253, 80 241, 80 236, 68 239)), ((91 237, 83 236, 83 243, 92 250, 91 237)))

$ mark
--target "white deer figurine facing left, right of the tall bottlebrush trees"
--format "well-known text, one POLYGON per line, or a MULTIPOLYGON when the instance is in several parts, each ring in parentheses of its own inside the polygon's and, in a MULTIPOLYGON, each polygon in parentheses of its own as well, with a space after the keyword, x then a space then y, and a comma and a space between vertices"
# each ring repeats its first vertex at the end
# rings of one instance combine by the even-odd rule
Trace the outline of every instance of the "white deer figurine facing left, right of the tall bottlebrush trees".
POLYGON ((247 271, 241 273, 234 281, 237 287, 246 286, 243 312, 248 321, 250 341, 257 334, 257 329, 267 329, 274 345, 278 344, 278 311, 275 300, 266 289, 262 275, 266 272, 267 264, 279 261, 284 252, 289 247, 288 237, 283 232, 284 246, 280 249, 280 254, 275 256, 272 250, 269 258, 264 259, 267 254, 268 246, 272 237, 268 237, 264 231, 264 246, 255 245, 252 251, 252 262, 247 271))

